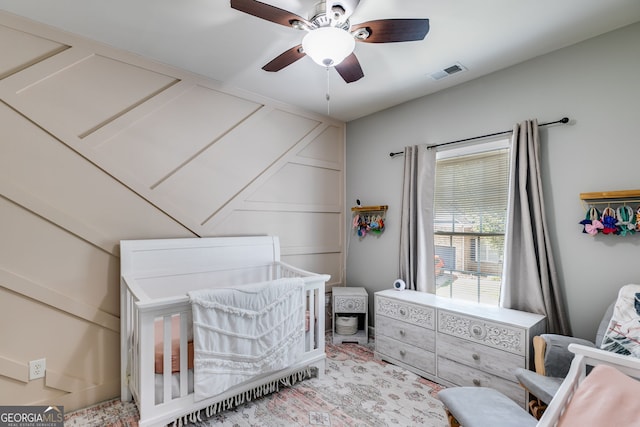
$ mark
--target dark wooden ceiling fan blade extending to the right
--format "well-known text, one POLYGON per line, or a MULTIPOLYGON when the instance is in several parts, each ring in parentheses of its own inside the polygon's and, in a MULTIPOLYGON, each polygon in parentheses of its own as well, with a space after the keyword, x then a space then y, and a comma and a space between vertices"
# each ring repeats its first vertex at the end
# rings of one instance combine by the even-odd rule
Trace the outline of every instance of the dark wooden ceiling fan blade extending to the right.
POLYGON ((380 19, 351 27, 351 32, 364 28, 369 37, 356 41, 367 43, 394 43, 422 40, 429 32, 428 19, 380 19))

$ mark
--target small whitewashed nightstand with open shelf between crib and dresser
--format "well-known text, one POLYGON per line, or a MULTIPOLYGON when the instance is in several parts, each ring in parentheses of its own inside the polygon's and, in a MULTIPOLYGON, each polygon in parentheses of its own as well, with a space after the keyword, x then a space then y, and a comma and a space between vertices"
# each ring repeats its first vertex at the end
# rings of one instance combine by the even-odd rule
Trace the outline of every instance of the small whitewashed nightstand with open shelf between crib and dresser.
POLYGON ((369 295, 365 288, 333 287, 333 343, 369 341, 369 295))

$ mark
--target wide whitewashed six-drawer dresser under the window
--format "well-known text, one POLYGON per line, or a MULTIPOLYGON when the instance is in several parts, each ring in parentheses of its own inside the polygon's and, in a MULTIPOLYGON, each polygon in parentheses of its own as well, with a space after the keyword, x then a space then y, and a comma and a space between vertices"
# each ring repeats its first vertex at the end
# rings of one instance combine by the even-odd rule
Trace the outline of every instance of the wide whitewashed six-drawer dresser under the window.
POLYGON ((528 368, 545 317, 433 294, 376 292, 375 356, 445 386, 492 387, 526 407, 528 368))

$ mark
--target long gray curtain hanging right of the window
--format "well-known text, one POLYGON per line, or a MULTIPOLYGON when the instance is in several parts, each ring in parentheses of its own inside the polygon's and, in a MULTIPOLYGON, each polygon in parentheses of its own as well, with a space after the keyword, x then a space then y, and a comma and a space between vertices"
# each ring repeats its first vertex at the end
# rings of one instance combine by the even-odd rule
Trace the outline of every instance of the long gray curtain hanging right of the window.
POLYGON ((537 120, 516 124, 500 305, 547 316, 547 332, 571 335, 547 231, 537 120))

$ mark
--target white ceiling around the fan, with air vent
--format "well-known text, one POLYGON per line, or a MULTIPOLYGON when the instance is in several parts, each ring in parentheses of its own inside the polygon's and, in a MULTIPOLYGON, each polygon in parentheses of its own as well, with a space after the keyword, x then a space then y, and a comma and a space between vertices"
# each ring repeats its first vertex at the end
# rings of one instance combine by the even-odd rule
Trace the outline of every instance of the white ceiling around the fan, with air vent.
MULTIPOLYGON (((316 0, 264 2, 308 17, 316 0)), ((361 0, 352 24, 428 18, 431 29, 417 42, 357 43, 365 76, 346 84, 310 58, 263 71, 304 33, 229 0, 0 0, 0 9, 344 121, 640 21, 640 0, 361 0), (430 77, 456 62, 468 71, 430 77)))

